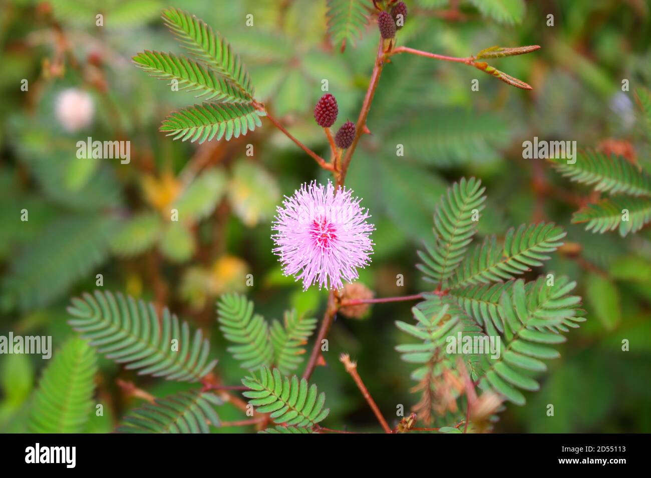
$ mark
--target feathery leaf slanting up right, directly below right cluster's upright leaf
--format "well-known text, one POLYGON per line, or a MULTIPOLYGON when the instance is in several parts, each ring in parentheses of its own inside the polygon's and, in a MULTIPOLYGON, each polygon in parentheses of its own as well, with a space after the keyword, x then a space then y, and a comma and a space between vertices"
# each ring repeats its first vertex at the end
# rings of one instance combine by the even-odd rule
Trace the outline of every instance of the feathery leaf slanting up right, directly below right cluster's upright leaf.
POLYGON ((565 235, 564 230, 553 222, 540 222, 529 226, 522 224, 517 230, 510 228, 503 246, 497 245, 495 237, 487 237, 456 269, 450 287, 501 282, 531 271, 531 267, 540 267, 542 261, 549 259, 546 254, 562 245, 561 239, 565 235))

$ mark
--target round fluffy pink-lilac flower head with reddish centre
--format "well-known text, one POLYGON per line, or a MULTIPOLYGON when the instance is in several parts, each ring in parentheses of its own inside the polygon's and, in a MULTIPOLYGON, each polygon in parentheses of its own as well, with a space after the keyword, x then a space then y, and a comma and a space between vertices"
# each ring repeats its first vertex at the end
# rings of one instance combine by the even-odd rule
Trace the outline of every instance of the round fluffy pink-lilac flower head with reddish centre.
POLYGON ((357 267, 370 263, 373 243, 368 209, 359 207, 359 198, 350 189, 312 181, 286 197, 273 221, 277 246, 285 275, 303 280, 303 289, 318 282, 319 288, 339 289, 342 278, 357 279, 357 267))

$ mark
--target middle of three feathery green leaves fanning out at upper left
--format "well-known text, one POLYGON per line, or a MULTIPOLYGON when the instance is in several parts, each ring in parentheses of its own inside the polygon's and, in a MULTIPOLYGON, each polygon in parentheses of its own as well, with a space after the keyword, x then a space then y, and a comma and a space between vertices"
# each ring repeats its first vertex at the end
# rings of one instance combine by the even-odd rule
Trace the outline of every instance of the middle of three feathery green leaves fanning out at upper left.
POLYGON ((173 53, 144 51, 133 57, 133 62, 150 75, 178 81, 179 90, 199 92, 197 98, 223 103, 250 103, 251 96, 220 78, 201 64, 173 53))

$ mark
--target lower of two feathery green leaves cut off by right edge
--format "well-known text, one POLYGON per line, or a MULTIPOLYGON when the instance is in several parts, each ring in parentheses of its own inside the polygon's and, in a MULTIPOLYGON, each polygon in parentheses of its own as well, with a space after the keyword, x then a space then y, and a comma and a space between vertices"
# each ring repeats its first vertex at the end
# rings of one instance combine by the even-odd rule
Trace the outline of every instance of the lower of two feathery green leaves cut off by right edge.
POLYGON ((637 232, 651 222, 651 199, 615 196, 605 198, 596 204, 579 209, 572 216, 572 222, 587 222, 585 229, 598 233, 619 229, 622 237, 637 232), (624 219, 628 211, 628 219, 624 219))

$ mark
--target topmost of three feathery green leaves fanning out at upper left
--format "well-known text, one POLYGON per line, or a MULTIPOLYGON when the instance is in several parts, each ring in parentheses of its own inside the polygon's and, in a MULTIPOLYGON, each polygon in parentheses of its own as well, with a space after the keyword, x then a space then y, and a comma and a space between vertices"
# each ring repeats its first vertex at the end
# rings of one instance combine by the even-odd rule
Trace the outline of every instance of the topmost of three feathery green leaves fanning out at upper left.
POLYGON ((249 100, 253 99, 251 79, 240 62, 240 57, 233 53, 229 43, 215 34, 209 25, 177 8, 163 10, 163 20, 197 59, 227 78, 249 100))

